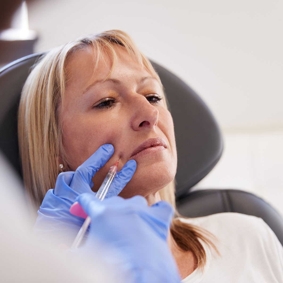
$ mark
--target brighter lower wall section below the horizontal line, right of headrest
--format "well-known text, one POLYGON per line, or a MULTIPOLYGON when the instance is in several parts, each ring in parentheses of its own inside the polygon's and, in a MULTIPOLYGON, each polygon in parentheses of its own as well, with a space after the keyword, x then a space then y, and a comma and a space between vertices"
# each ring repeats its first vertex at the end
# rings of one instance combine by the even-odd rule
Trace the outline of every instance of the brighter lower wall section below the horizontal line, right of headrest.
POLYGON ((245 190, 263 198, 283 216, 282 144, 282 131, 226 132, 221 159, 194 189, 245 190))

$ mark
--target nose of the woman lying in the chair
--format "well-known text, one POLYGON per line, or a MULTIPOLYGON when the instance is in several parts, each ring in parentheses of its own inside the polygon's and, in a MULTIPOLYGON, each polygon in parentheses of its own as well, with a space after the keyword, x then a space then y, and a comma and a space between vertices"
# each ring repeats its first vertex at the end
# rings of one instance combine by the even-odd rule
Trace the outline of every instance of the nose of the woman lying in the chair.
POLYGON ((131 127, 135 131, 145 128, 154 128, 158 122, 158 110, 150 104, 146 97, 141 96, 135 99, 135 107, 132 108, 131 127), (137 103, 138 102, 138 103, 137 103))

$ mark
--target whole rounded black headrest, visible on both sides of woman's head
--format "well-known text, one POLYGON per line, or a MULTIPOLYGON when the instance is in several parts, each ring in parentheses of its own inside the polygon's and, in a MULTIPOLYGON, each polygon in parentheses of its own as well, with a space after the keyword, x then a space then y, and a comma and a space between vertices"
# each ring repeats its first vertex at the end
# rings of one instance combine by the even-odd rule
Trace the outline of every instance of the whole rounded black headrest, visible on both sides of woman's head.
MULTIPOLYGON (((20 175, 18 102, 29 70, 42 54, 23 57, 0 70, 0 149, 20 175)), ((164 85, 175 125, 178 154, 176 195, 181 196, 215 166, 222 154, 222 137, 213 115, 200 97, 177 76, 152 63, 164 85)))

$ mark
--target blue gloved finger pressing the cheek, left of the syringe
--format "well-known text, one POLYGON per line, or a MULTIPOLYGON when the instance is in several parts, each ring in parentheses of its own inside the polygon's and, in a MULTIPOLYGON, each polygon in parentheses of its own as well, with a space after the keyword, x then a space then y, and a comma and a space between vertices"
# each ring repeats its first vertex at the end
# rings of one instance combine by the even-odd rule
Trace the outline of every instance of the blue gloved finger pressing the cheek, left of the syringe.
POLYGON ((93 185, 91 178, 105 165, 113 153, 114 147, 112 144, 106 143, 99 147, 93 155, 77 168, 70 187, 79 194, 90 192, 93 185))

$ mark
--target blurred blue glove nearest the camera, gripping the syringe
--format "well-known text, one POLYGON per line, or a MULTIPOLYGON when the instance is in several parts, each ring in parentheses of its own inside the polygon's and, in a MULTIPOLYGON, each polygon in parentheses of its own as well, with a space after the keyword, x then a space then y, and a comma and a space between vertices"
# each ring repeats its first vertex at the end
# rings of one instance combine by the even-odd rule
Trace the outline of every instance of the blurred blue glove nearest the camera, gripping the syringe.
POLYGON ((149 207, 145 198, 119 196, 99 201, 84 193, 76 199, 91 217, 90 232, 79 250, 96 254, 117 267, 123 282, 180 282, 177 265, 166 238, 173 208, 165 201, 149 207), (92 250, 94 243, 101 254, 92 250))

